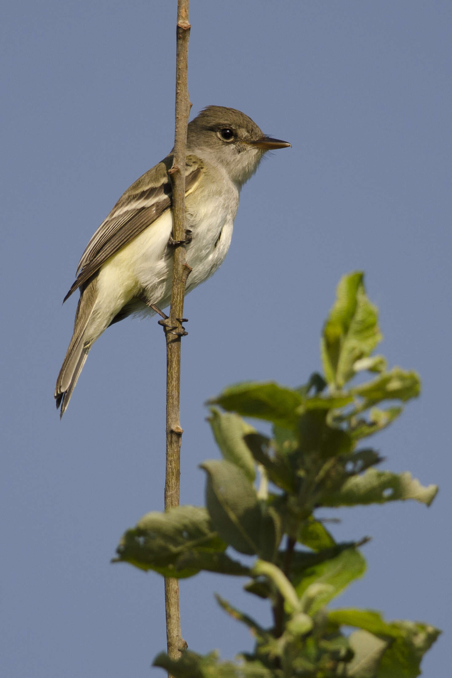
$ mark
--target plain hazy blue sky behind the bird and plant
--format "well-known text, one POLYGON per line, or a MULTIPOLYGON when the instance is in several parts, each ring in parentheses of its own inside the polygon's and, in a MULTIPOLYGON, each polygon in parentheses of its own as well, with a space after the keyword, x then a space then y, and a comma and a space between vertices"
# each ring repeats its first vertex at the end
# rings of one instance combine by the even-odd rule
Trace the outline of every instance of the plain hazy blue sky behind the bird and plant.
MULTIPOLYGON (((245 186, 230 252, 186 299, 182 496, 218 458, 203 403, 232 382, 297 386, 319 370, 340 276, 367 274, 390 365, 423 393, 373 439, 384 468, 439 483, 415 502, 331 511, 338 539, 373 540, 333 606, 446 633, 424 675, 450 676, 450 0, 192 0, 193 114, 239 108, 288 140, 245 186)), ((165 348, 157 319, 111 327, 62 420, 54 383, 87 241, 173 143, 176 0, 16 0, 1 19, 3 260, 1 673, 128 678, 165 648, 163 580, 110 565, 123 531, 161 509, 165 348)), ((261 427, 264 428, 264 427, 261 427)), ((270 623, 243 579, 181 584, 192 650, 249 650, 213 591, 270 623)))

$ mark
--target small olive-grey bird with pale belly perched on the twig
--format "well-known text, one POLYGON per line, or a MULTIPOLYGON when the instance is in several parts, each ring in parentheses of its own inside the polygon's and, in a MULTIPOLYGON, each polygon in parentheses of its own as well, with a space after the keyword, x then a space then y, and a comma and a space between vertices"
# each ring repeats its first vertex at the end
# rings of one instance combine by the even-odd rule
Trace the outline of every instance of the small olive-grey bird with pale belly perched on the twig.
MULTIPOLYGON (((186 292, 222 264, 232 236, 243 184, 266 151, 291 144, 265 136, 234 108, 207 106, 188 123, 186 145, 186 262, 192 268, 186 292)), ((56 380, 60 417, 91 346, 113 323, 150 314, 171 300, 171 153, 132 184, 100 224, 81 256, 74 334, 56 380)))

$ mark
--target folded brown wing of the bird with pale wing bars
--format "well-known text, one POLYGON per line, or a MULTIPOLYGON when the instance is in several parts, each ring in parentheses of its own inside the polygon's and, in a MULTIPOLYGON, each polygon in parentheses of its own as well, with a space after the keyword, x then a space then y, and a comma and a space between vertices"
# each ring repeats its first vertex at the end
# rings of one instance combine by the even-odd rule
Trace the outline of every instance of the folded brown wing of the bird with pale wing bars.
MULTIPOLYGON (((97 273, 110 256, 136 238, 171 207, 171 180, 168 171, 172 161, 172 156, 167 156, 140 176, 119 198, 87 244, 77 266, 77 279, 64 297, 63 303, 77 287, 97 273)), ((196 156, 188 155, 185 166, 185 195, 192 193, 197 186, 202 171, 202 161, 196 156)))

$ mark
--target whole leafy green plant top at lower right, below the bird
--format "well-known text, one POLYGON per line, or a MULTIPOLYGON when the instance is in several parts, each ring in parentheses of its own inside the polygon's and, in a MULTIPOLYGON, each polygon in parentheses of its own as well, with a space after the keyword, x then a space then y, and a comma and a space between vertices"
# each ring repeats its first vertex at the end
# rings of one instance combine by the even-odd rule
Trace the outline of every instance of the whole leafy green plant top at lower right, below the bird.
POLYGON ((419 675, 437 629, 385 622, 368 610, 325 608, 365 572, 358 549, 365 540, 336 543, 316 510, 407 499, 428 506, 437 491, 409 473, 377 471, 382 458, 360 447, 419 394, 415 372, 388 370, 382 356, 371 355, 381 338, 362 273, 346 275, 323 327, 324 377, 313 374, 300 388, 237 384, 209 403, 222 460, 201 464, 206 507, 148 513, 125 532, 116 560, 179 578, 201 570, 248 576, 245 589, 268 599, 274 624, 264 629, 217 597, 255 637, 253 654, 235 663, 215 653, 187 650, 178 661, 162 653, 156 666, 176 678, 419 675), (350 384, 364 372, 375 376, 350 384), (257 433, 243 416, 272 422, 272 436, 257 433), (255 556, 253 565, 231 557, 228 547, 255 556), (347 635, 343 626, 356 631, 347 635))

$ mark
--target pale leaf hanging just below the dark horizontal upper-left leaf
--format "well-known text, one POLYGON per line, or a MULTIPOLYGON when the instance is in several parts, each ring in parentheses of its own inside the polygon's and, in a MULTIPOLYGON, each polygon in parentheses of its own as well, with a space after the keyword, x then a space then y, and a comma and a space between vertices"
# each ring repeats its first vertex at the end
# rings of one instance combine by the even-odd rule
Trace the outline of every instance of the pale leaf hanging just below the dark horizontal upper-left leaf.
POLYGON ((238 414, 222 413, 215 407, 211 407, 210 412, 211 416, 207 417, 207 421, 211 425, 213 436, 223 458, 239 466, 248 479, 253 481, 255 479, 254 460, 243 436, 247 433, 255 433, 255 428, 244 422, 238 414))

